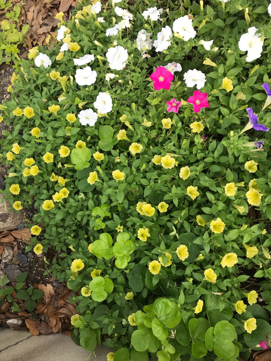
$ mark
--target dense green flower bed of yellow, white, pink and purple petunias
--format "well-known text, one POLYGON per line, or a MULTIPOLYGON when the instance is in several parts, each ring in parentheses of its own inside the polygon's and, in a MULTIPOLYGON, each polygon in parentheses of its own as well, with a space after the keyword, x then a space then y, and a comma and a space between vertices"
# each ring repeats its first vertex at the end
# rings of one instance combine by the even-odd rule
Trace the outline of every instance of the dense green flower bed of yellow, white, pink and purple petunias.
POLYGON ((5 194, 35 200, 74 342, 248 360, 271 334, 267 1, 119 2, 78 5, 17 68, 5 194))

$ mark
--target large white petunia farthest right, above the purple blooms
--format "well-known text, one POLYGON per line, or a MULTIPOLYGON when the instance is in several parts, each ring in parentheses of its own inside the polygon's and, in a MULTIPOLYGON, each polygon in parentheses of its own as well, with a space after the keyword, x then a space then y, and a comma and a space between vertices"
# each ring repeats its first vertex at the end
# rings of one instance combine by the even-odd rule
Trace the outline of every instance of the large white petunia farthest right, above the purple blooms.
POLYGON ((241 35, 238 42, 241 51, 247 51, 246 61, 251 62, 258 59, 263 51, 263 41, 261 40, 261 33, 255 34, 258 29, 253 26, 248 29, 246 34, 241 35))

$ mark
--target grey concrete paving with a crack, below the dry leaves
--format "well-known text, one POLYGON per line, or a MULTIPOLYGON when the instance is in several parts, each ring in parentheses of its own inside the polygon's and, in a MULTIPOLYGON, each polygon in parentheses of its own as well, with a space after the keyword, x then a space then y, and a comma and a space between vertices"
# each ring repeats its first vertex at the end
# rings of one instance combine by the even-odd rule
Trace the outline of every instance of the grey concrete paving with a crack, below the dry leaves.
MULTIPOLYGON (((100 346, 95 350, 96 358, 91 355, 89 361, 107 361, 110 351, 100 346)), ((89 355, 64 332, 33 336, 28 331, 0 329, 1 361, 87 361, 89 355)))

